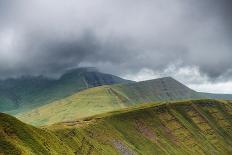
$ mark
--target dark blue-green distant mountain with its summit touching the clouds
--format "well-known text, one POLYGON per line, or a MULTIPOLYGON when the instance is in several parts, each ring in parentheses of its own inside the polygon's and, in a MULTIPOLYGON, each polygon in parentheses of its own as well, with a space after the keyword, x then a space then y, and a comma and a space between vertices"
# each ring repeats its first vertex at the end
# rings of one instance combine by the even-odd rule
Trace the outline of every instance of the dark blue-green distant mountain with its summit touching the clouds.
POLYGON ((59 79, 24 76, 1 80, 0 111, 17 113, 62 99, 86 88, 128 82, 131 81, 101 73, 94 68, 69 70, 59 79))

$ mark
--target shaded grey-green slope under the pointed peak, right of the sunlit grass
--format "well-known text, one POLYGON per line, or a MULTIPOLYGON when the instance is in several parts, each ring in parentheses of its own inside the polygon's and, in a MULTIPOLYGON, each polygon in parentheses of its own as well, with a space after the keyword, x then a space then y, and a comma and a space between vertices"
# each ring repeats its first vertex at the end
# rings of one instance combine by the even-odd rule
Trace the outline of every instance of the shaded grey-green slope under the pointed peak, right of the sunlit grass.
POLYGON ((194 90, 171 77, 115 85, 116 91, 127 96, 130 103, 151 102, 162 100, 194 99, 202 97, 194 90))

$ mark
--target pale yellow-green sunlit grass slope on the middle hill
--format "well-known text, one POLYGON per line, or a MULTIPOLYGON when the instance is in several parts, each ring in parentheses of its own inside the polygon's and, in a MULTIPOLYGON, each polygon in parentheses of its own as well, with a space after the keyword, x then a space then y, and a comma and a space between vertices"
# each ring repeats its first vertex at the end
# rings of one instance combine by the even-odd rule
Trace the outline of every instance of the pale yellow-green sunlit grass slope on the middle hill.
POLYGON ((80 119, 124 107, 126 105, 112 93, 109 86, 101 86, 84 90, 17 117, 33 125, 44 125, 80 119))

